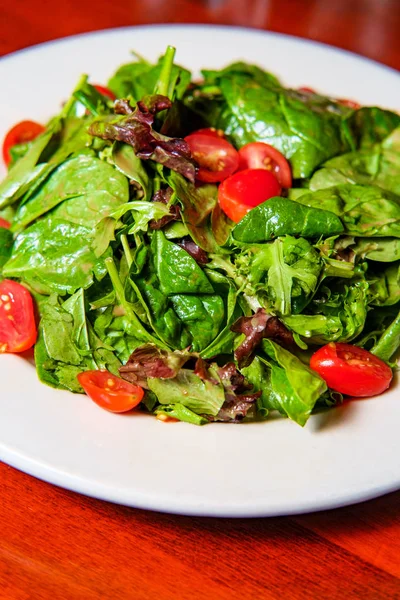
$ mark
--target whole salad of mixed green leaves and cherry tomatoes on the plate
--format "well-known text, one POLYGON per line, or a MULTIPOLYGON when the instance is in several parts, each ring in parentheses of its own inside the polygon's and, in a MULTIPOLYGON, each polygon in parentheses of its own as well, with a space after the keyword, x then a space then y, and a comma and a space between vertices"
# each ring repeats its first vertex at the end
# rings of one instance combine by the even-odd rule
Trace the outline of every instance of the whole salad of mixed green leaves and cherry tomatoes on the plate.
POLYGON ((3 143, 0 352, 103 408, 304 425, 400 346, 400 116, 244 62, 82 76, 3 143))

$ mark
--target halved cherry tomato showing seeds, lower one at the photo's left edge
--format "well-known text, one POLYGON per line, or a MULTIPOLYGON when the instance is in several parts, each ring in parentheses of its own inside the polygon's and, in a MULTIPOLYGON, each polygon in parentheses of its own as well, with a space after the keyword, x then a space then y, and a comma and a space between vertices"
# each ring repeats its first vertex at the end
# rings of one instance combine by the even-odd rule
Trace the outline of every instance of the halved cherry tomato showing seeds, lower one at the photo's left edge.
POLYGON ((0 353, 23 352, 36 342, 32 296, 10 279, 0 283, 0 353))

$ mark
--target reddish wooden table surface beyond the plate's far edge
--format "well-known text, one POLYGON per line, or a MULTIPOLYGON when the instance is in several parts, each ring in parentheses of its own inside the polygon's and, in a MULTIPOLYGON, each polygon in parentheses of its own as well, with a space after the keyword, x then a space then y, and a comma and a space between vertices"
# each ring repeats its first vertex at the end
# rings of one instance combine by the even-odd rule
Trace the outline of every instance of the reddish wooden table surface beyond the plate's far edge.
POLYGON ((145 23, 223 23, 318 40, 400 68, 399 0, 15 0, 0 54, 75 33, 145 23))

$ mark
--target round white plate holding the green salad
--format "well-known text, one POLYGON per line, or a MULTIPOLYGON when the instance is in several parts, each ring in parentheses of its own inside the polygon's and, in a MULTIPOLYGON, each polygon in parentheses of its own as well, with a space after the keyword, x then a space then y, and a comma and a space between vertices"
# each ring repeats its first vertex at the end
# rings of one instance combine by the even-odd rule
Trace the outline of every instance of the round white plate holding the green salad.
MULTIPOLYGON (((0 61, 0 137, 16 121, 58 111, 82 72, 105 82, 135 49, 167 44, 198 70, 257 62, 293 86, 399 109, 400 77, 382 65, 296 38, 227 27, 110 30, 0 61)), ((196 427, 112 415, 85 396, 41 385, 21 357, 0 359, 0 456, 65 488, 183 514, 271 516, 342 506, 400 487, 400 393, 354 401, 301 429, 275 419, 196 427)))

